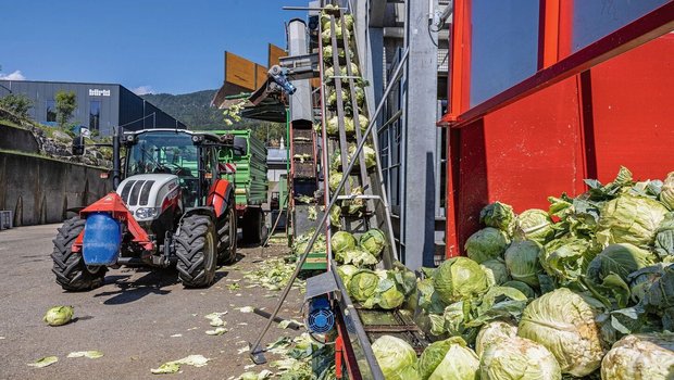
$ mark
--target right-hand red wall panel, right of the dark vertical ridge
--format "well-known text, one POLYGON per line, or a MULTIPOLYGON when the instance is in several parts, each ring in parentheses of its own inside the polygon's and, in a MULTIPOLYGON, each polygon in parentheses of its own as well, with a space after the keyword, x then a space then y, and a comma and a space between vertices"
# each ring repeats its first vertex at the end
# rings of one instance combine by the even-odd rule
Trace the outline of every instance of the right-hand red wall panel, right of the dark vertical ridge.
POLYGON ((610 181, 620 165, 641 179, 674 170, 674 35, 592 67, 590 78, 591 104, 584 102, 595 129, 590 176, 610 181))

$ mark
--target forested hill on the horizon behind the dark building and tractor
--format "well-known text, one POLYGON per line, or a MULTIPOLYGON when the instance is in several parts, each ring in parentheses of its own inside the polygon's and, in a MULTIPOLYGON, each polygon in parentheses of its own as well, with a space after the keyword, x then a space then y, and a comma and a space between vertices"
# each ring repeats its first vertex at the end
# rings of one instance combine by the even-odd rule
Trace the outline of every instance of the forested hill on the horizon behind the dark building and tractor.
POLYGON ((171 116, 183 122, 190 129, 245 129, 254 130, 255 137, 275 147, 286 135, 285 124, 242 119, 235 125, 225 124, 223 110, 211 106, 217 90, 202 90, 191 93, 148 93, 142 99, 157 105, 171 116))

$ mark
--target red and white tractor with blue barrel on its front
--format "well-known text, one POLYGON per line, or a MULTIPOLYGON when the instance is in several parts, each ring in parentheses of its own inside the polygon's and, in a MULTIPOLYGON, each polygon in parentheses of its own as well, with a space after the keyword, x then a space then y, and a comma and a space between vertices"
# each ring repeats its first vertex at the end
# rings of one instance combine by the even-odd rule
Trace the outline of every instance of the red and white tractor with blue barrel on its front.
MULTIPOLYGON (((73 151, 84 152, 76 140, 73 151)), ((59 229, 51 255, 57 282, 90 290, 103 283, 108 267, 175 264, 185 287, 210 286, 217 265, 236 258, 234 186, 217 162, 221 149, 239 148, 234 138, 120 129, 112 147, 115 191, 59 229)))

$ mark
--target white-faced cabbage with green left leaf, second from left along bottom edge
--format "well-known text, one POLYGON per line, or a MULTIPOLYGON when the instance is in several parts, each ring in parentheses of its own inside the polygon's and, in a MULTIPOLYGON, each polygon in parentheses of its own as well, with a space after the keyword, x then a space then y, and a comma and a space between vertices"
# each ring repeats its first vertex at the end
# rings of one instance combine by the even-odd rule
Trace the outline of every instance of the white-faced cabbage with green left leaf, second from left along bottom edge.
POLYGON ((478 369, 477 355, 459 337, 432 343, 419 358, 423 380, 477 380, 478 369))

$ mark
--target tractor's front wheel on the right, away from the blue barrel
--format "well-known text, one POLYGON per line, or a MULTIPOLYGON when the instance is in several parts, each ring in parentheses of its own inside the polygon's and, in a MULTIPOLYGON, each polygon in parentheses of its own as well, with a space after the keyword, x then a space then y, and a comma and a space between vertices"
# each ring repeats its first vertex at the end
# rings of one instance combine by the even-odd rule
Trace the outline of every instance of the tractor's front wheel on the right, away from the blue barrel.
POLYGON ((183 219, 175 238, 176 269, 185 288, 203 288, 213 282, 216 266, 216 237, 213 220, 203 215, 183 219))

